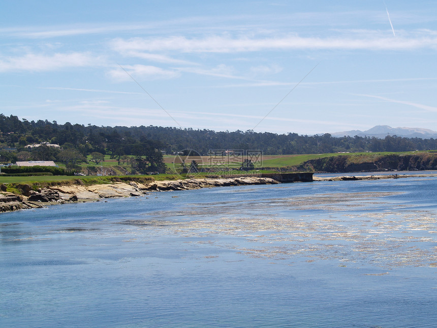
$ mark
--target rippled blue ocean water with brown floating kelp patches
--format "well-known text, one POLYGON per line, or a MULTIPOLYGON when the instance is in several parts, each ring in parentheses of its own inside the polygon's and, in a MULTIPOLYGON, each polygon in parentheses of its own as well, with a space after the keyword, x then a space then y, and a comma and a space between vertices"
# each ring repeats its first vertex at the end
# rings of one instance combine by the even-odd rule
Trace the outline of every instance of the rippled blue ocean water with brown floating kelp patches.
POLYGON ((0 215, 2 327, 435 327, 437 180, 156 192, 0 215))

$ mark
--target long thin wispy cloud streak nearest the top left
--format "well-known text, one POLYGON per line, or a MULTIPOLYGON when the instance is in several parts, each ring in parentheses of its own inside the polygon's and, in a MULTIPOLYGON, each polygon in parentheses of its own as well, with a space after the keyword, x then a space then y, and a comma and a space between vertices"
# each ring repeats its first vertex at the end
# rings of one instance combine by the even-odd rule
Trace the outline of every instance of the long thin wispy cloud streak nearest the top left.
MULTIPOLYGON (((351 17, 355 15, 371 14, 363 11, 359 12, 314 12, 314 13, 293 13, 293 14, 262 14, 262 15, 201 15, 189 16, 183 18, 153 20, 144 22, 131 23, 96 23, 96 24, 63 24, 63 25, 29 25, 29 26, 11 26, 0 28, 0 34, 9 37, 32 38, 32 39, 48 39, 58 37, 73 37, 82 35, 98 35, 98 34, 114 34, 122 32, 131 33, 197 33, 199 26, 202 26, 202 33, 212 33, 214 31, 254 31, 263 29, 271 29, 272 21, 279 25, 286 26, 314 26, 323 25, 325 19, 329 17, 330 21, 340 22, 342 17, 351 17), (220 27, 217 27, 220 26, 220 27)), ((340 23, 340 25, 342 25, 340 23)))

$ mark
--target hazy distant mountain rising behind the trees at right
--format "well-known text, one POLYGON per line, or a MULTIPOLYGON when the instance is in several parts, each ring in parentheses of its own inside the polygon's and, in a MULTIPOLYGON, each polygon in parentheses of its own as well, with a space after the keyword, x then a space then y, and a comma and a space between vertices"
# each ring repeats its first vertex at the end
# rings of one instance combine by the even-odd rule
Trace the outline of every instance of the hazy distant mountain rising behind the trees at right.
POLYGON ((366 131, 360 130, 352 130, 352 131, 344 131, 344 132, 334 132, 330 133, 333 137, 343 137, 343 136, 359 136, 359 137, 377 137, 377 138, 385 138, 388 135, 396 135, 398 137, 406 137, 406 138, 437 138, 437 132, 429 129, 420 129, 420 128, 392 128, 388 125, 377 125, 366 131))

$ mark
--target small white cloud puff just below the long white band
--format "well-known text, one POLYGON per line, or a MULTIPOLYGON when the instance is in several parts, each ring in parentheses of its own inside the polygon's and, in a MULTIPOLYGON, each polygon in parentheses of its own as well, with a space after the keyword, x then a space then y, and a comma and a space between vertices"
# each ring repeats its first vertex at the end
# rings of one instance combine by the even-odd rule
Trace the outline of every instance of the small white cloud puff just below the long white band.
POLYGON ((180 75, 178 71, 164 70, 160 67, 148 65, 125 65, 123 66, 123 69, 116 68, 109 71, 108 74, 111 78, 117 81, 131 80, 131 76, 142 79, 170 79, 179 77, 180 75), (123 69, 129 74, 127 74, 123 69))

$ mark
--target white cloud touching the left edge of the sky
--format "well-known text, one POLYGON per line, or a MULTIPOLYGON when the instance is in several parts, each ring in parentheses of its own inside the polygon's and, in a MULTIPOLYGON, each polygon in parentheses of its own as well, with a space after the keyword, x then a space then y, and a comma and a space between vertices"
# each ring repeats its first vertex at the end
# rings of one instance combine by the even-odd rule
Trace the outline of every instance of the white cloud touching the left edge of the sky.
POLYGON ((55 53, 52 55, 28 53, 21 57, 0 57, 0 72, 55 71, 69 67, 96 65, 101 58, 88 52, 55 53))

